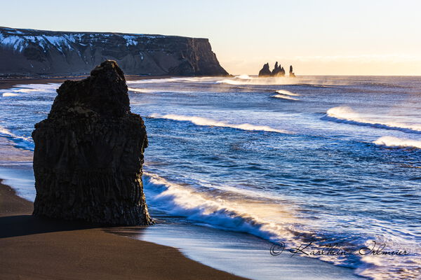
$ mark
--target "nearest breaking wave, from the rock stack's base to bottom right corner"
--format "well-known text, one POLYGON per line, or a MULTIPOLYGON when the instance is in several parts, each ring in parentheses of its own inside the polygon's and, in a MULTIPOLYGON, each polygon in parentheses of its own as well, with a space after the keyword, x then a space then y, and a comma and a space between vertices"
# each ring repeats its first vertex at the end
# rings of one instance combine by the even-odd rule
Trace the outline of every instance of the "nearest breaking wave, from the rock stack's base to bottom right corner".
MULTIPOLYGON (((314 241, 314 248, 326 248, 326 244, 332 241, 343 241, 338 249, 354 251, 359 246, 370 247, 373 239, 361 237, 356 239, 351 235, 342 236, 337 232, 313 232, 309 230, 311 221, 302 217, 295 217, 298 207, 290 201, 282 200, 258 200, 249 198, 247 195, 230 193, 229 191, 196 190, 192 186, 180 185, 163 179, 162 177, 144 172, 144 190, 148 203, 154 204, 168 214, 182 216, 195 223, 213 226, 222 230, 246 232, 269 241, 287 241, 287 246, 300 246, 309 240, 314 241), (283 205, 288 205, 285 207, 283 205), (325 241, 326 240, 326 243, 325 241), (347 243, 345 240, 349 240, 347 243)), ((391 240, 392 242, 392 240, 391 240)), ((291 247, 292 248, 292 247, 291 247)), ((394 269, 406 267, 408 272, 416 269, 417 261, 403 263, 396 260, 396 256, 358 255, 356 253, 344 255, 308 255, 331 262, 335 265, 352 267, 361 276, 372 279, 382 279, 379 276, 390 273, 391 279, 399 279, 406 272, 392 275, 394 269), (375 265, 374 265, 375 264, 375 265), (396 277, 396 278, 394 278, 396 277)), ((410 273, 409 273, 410 275, 410 273)))

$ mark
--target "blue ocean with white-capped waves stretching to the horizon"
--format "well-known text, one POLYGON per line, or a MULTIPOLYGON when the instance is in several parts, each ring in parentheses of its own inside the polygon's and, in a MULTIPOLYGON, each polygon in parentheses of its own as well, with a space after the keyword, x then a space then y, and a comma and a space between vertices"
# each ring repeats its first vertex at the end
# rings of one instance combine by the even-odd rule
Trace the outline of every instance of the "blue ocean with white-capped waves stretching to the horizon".
MULTIPOLYGON (((32 168, 31 132, 58 86, 0 90, 1 176, 32 168)), ((295 254, 371 279, 421 278, 420 77, 161 78, 128 88, 147 127, 145 195, 158 224, 241 233, 250 246, 278 244, 274 255, 308 244, 295 254)), ((15 187, 34 200, 30 178, 15 187)))

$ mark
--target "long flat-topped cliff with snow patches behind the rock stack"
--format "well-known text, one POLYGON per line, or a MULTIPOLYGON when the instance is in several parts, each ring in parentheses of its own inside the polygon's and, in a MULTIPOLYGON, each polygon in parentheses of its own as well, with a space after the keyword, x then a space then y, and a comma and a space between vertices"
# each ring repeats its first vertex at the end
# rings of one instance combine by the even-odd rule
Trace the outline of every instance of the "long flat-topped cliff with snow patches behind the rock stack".
POLYGON ((89 73, 105 59, 126 74, 225 76, 206 38, 0 27, 0 75, 89 73))

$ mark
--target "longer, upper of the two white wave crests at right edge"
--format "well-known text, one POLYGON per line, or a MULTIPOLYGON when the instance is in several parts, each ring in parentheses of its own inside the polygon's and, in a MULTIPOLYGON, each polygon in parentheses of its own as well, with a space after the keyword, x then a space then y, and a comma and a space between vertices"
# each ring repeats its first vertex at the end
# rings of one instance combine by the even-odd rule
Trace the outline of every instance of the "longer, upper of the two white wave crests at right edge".
POLYGON ((363 125, 382 128, 385 130, 400 130, 402 132, 421 134, 421 125, 407 125, 405 123, 392 123, 379 121, 373 118, 364 118, 351 108, 346 106, 334 107, 326 112, 322 119, 336 123, 348 123, 350 125, 363 125))

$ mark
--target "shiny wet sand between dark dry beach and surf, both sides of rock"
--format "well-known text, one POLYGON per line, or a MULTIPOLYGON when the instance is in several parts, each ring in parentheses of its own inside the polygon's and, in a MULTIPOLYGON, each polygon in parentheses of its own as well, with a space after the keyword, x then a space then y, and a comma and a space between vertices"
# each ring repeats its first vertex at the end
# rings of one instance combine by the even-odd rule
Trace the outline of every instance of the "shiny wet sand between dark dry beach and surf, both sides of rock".
MULTIPOLYGON (((22 165, 13 165, 13 167, 0 165, 0 178, 4 179, 3 183, 11 186, 19 197, 33 201, 34 179, 31 171, 32 168, 27 166, 27 162, 22 162, 22 165)), ((32 204, 29 204, 30 213, 32 204)), ((185 221, 185 218, 171 216, 152 205, 149 207, 152 217, 158 221, 155 225, 102 228, 102 230, 112 235, 122 236, 122 238, 177 248, 182 256, 189 260, 247 279, 365 279, 355 275, 353 269, 338 267, 315 258, 305 258, 304 256, 290 258, 287 253, 273 256, 269 253, 272 243, 255 235, 198 225, 192 221, 185 221), (253 265, 250 266, 250 263, 253 265)), ((73 244, 69 246, 73 246, 73 244)), ((175 277, 178 279, 181 276, 175 275, 175 277)))

